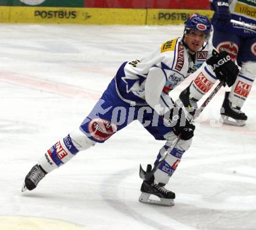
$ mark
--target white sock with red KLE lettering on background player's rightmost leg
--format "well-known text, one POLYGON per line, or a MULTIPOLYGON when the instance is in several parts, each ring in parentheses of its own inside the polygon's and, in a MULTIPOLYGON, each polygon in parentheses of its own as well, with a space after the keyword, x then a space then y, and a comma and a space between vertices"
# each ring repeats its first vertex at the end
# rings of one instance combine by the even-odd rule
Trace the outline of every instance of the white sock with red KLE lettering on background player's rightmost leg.
POLYGON ((229 94, 229 100, 233 105, 241 108, 246 101, 255 79, 255 64, 253 61, 248 61, 241 65, 240 73, 229 94))

